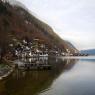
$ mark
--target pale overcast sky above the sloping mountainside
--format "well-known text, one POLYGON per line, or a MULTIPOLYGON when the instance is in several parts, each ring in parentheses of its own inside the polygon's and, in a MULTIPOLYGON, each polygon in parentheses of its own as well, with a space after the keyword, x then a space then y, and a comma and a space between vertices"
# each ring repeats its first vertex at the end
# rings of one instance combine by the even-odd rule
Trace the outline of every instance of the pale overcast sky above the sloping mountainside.
POLYGON ((79 50, 95 48, 95 0, 18 0, 79 50))

